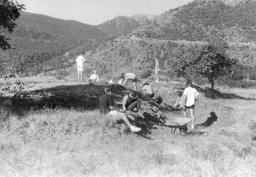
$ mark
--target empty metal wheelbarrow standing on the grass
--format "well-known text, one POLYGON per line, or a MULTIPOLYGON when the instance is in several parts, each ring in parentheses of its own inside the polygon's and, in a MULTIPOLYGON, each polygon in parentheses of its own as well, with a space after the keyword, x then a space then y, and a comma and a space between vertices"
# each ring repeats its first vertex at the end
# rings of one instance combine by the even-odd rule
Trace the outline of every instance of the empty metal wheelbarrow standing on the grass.
POLYGON ((171 129, 171 133, 175 133, 176 129, 179 128, 181 133, 184 135, 185 131, 187 131, 187 125, 192 121, 191 118, 172 118, 168 120, 166 123, 162 123, 161 125, 167 125, 170 128, 174 128, 174 130, 171 129))

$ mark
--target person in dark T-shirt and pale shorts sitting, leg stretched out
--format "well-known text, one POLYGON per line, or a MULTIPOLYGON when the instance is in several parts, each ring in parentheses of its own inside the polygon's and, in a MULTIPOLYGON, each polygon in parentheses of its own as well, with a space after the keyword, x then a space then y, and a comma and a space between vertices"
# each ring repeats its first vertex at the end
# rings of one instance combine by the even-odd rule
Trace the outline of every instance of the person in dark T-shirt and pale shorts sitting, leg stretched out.
POLYGON ((115 109, 115 101, 113 98, 114 91, 111 87, 105 88, 105 94, 100 96, 99 111, 103 114, 111 115, 115 118, 122 118, 124 122, 130 127, 132 132, 141 131, 141 128, 132 125, 123 112, 118 112, 115 109))

